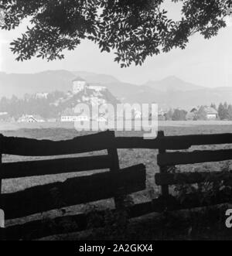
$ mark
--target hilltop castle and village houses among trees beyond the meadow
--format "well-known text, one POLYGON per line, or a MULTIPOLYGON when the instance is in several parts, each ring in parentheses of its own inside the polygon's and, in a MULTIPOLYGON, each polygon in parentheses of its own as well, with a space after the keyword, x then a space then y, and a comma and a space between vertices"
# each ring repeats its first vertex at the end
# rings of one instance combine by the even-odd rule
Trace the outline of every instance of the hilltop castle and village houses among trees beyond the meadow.
MULTIPOLYGON (((0 121, 5 122, 19 122, 19 123, 34 123, 34 122, 74 122, 74 121, 107 121, 107 115, 101 114, 90 116, 88 114, 75 113, 75 106, 77 104, 86 103, 91 106, 101 106, 111 104, 105 97, 107 87, 102 86, 100 83, 87 83, 81 77, 77 77, 72 81, 72 90, 67 91, 56 98, 56 101, 49 103, 53 108, 60 109, 58 114, 54 114, 49 118, 44 117, 39 113, 23 113, 18 118, 14 114, 9 114, 8 111, 1 111, 0 121)), ((34 96, 34 100, 46 101, 49 93, 38 92, 34 96)), ((113 96, 112 96, 113 97, 113 96)), ((119 103, 116 98, 114 104, 119 103)), ((123 116, 116 117, 123 118, 123 116)), ((134 110, 132 119, 142 118, 141 109, 134 110)), ((145 117, 145 118, 152 118, 145 117)), ((227 103, 220 104, 217 108, 216 104, 210 106, 196 106, 189 110, 183 108, 168 108, 162 106, 158 108, 159 121, 197 121, 197 120, 231 120, 232 119, 232 106, 227 103)))

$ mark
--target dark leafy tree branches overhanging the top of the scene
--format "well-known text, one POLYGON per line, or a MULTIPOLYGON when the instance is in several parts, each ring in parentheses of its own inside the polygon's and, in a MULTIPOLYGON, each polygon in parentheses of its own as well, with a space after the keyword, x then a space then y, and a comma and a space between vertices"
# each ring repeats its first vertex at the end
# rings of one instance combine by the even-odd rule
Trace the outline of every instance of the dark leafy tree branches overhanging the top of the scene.
POLYGON ((15 29, 23 19, 30 26, 12 42, 16 60, 32 56, 63 59, 63 49, 75 49, 83 39, 101 51, 114 50, 115 61, 129 67, 147 56, 184 49, 189 36, 206 39, 226 26, 231 0, 170 0, 182 4, 182 18, 168 18, 163 0, 0 0, 5 11, 2 29, 15 29))

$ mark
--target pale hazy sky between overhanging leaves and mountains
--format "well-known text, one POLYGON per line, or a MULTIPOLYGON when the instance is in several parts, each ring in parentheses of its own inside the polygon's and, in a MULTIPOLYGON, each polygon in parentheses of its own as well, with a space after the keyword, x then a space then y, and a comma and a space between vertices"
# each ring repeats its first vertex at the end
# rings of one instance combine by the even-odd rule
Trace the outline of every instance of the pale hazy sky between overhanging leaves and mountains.
MULTIPOLYGON (((178 5, 166 4, 172 18, 178 17, 178 5)), ((230 22, 231 24, 231 22, 230 22)), ((114 53, 100 53, 97 45, 84 40, 72 52, 64 52, 65 60, 46 62, 33 58, 16 62, 9 50, 12 39, 25 30, 25 24, 11 32, 0 30, 0 70, 7 73, 36 73, 42 70, 80 70, 111 74, 118 79, 143 84, 147 80, 160 80, 176 76, 206 87, 232 87, 232 26, 222 29, 210 40, 194 35, 185 50, 173 49, 170 53, 148 57, 142 67, 121 69, 114 63, 114 53)))

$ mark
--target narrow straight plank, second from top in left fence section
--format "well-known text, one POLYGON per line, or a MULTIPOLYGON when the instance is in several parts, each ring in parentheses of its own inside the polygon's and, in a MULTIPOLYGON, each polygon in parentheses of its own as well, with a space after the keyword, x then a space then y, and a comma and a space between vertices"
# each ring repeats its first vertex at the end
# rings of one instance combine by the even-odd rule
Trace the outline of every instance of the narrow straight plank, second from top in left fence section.
POLYGON ((0 177, 2 177, 2 179, 15 179, 67 172, 108 169, 110 166, 111 158, 108 155, 27 162, 5 162, 2 164, 0 177))

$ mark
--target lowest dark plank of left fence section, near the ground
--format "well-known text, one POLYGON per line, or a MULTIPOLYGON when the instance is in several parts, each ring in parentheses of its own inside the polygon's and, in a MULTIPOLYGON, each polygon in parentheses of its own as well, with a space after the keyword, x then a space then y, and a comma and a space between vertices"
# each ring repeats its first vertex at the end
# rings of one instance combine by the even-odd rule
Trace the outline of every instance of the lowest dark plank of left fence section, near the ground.
MULTIPOLYGON (((152 203, 140 203, 126 208, 129 218, 140 217, 153 212, 152 203)), ((111 210, 111 214, 115 209, 111 210)), ((97 217, 97 224, 91 226, 104 227, 105 217, 109 214, 108 210, 99 210, 94 212, 94 218, 97 217)), ((5 228, 5 240, 33 240, 41 237, 48 237, 56 234, 68 234, 86 230, 93 213, 79 213, 64 217, 56 217, 46 220, 33 220, 26 224, 16 224, 5 228)))

